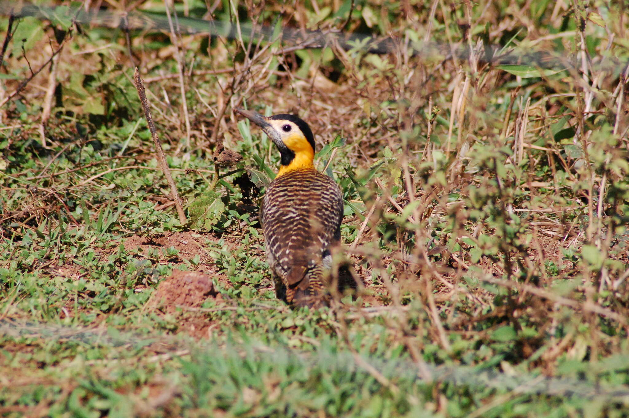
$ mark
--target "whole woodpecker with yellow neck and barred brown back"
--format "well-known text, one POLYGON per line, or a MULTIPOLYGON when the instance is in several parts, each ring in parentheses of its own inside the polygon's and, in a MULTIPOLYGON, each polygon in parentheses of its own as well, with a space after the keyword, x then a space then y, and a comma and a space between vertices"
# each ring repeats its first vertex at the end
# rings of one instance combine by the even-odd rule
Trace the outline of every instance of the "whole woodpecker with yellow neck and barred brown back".
POLYGON ((281 157, 260 208, 276 295, 297 306, 325 304, 338 269, 347 272, 346 265, 333 262, 340 248, 342 192, 330 176, 316 170, 315 137, 306 122, 292 114, 235 111, 257 124, 281 157))

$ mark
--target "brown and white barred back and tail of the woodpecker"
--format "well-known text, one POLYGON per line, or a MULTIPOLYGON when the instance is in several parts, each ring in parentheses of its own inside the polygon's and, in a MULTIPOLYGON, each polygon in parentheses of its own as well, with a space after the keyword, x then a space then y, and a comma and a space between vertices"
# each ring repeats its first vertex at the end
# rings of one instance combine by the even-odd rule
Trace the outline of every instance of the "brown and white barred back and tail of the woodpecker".
POLYGON ((340 241, 341 190, 313 168, 288 172, 269 185, 261 217, 277 295, 313 305, 328 284, 331 247, 340 241))

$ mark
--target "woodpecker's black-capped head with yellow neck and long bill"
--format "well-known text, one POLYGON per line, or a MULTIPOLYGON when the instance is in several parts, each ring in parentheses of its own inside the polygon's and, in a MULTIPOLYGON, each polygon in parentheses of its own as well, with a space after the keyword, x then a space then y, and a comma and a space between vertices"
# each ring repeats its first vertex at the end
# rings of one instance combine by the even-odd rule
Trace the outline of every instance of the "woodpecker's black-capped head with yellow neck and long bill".
POLYGON ((282 164, 277 175, 315 167, 315 136, 302 119, 284 113, 267 117, 245 109, 235 112, 260 126, 277 146, 282 164))

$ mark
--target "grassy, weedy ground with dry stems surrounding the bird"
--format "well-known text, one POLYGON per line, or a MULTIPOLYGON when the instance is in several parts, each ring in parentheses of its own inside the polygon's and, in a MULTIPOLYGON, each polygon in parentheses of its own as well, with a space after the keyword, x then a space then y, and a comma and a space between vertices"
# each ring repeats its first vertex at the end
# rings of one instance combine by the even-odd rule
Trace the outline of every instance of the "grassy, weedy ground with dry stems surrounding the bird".
MULTIPOLYGON (((185 98, 168 30, 14 22, 0 69, 0 415, 626 417, 627 19, 615 3, 533 3, 220 2, 213 18, 245 29, 406 43, 287 52, 290 36, 182 35, 185 98), (29 66, 43 70, 20 85, 29 66), (313 128, 364 293, 320 310, 276 299, 257 207, 279 153, 242 106, 313 128), (242 160, 214 163, 221 142, 242 160), (157 303, 174 269, 216 292, 157 303)), ((207 7, 175 5, 182 25, 207 7)))

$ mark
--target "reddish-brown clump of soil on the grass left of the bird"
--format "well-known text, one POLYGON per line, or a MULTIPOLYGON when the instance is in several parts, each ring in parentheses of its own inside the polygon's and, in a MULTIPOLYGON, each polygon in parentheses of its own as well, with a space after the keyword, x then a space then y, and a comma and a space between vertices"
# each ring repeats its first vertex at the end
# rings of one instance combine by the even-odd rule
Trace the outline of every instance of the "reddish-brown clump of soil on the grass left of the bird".
POLYGON ((177 307, 198 308, 210 296, 216 296, 212 279, 203 273, 173 270, 172 276, 159 283, 148 305, 174 313, 177 307))

